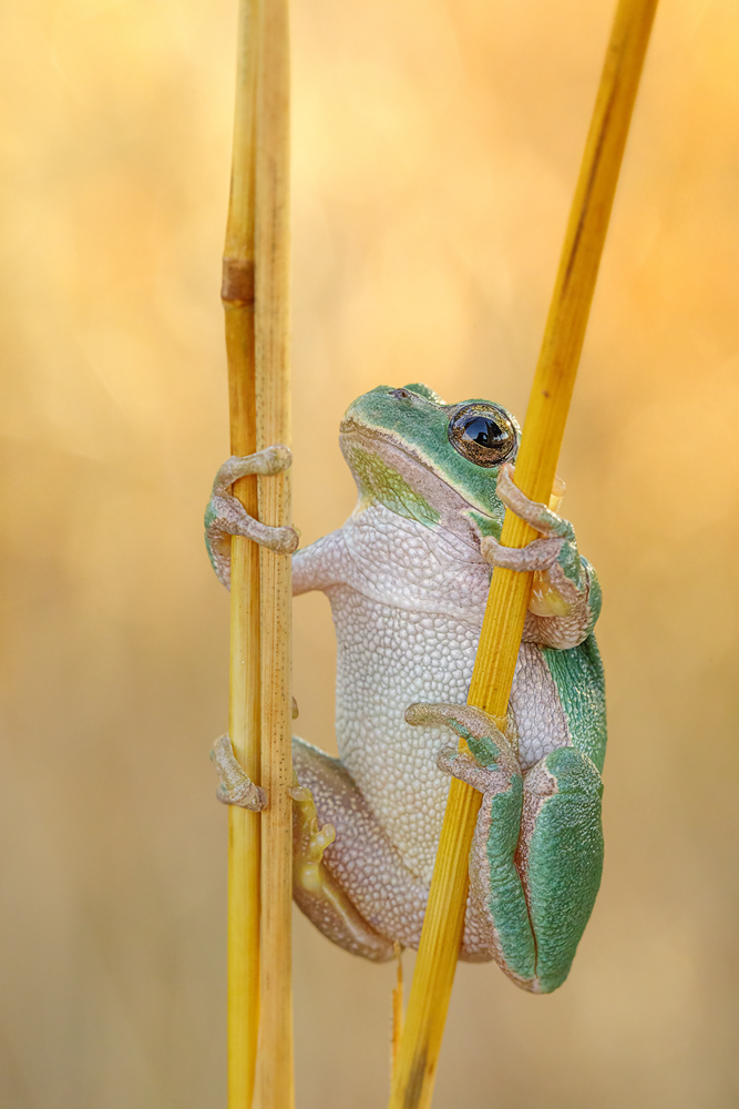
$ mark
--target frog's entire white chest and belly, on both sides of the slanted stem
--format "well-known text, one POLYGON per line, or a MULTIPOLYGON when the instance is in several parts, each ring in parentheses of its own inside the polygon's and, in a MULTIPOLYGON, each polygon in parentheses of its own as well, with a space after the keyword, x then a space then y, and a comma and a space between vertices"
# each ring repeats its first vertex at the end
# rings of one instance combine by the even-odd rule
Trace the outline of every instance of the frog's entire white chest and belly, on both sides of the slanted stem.
MULTIPOLYGON (((380 506, 333 535, 345 548, 336 552, 343 580, 326 589, 338 644, 339 755, 404 864, 429 882, 449 792, 437 757, 453 736, 411 728, 404 712, 415 701, 466 700, 490 568, 470 542, 414 521, 399 526, 380 506)), ((533 644, 522 645, 512 705, 524 769, 569 742, 533 644)))

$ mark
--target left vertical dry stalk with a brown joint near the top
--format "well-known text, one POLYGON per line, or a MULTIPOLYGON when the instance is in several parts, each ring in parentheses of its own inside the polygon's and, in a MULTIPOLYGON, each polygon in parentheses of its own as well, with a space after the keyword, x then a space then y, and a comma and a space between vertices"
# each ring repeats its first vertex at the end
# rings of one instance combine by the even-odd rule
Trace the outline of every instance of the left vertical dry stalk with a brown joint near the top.
MULTIPOLYGON (((256 450, 254 335, 254 180, 256 103, 256 0, 242 0, 237 33, 236 105, 230 197, 222 299, 230 450, 256 450)), ((242 478, 234 492, 257 516, 257 479, 242 478)), ((230 689, 228 732, 237 760, 260 781, 259 548, 232 540, 230 689)), ((259 1026, 260 817, 228 810, 228 1109, 249 1109, 254 1096, 259 1026)))

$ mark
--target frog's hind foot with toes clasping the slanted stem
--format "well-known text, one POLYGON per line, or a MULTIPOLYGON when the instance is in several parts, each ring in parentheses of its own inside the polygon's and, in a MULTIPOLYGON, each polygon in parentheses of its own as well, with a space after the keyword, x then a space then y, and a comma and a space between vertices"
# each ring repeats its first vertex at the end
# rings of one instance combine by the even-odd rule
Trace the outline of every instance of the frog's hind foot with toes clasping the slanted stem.
POLYGON ((459 751, 455 744, 442 747, 437 765, 480 793, 501 793, 509 788, 512 777, 521 777, 514 744, 482 709, 470 704, 412 704, 406 710, 406 722, 451 728, 464 740, 469 751, 459 751))

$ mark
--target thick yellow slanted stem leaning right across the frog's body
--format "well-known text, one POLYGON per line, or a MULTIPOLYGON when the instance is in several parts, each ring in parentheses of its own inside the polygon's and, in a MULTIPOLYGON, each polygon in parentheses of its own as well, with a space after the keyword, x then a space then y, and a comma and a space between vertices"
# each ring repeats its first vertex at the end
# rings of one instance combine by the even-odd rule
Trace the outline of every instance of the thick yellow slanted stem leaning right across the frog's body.
MULTIPOLYGON (((552 306, 515 468, 519 487, 545 503, 554 484, 601 254, 657 0, 620 0, 572 205, 552 306)), ((506 512, 501 542, 535 533, 506 512)), ((531 574, 496 569, 480 635, 469 703, 505 726, 531 574)), ((468 895, 468 861, 481 795, 452 781, 415 962, 390 1109, 428 1109, 468 895)))

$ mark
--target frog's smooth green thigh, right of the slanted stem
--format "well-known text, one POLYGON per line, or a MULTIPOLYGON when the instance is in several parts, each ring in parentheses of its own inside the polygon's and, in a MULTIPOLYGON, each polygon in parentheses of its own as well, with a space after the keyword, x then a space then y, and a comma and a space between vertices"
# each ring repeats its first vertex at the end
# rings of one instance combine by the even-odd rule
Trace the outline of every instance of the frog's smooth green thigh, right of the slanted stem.
POLYGON ((567 977, 601 885, 601 775, 576 747, 560 747, 524 782, 516 863, 536 940, 535 993, 567 977))

